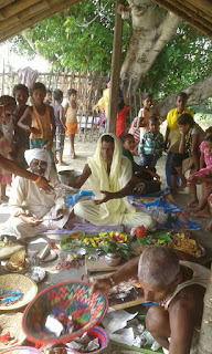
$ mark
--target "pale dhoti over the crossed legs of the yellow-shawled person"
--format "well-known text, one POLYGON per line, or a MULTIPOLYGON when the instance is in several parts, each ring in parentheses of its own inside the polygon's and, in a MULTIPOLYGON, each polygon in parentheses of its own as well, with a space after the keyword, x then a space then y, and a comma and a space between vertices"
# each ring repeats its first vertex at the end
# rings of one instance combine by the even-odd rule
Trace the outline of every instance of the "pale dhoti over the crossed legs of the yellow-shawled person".
POLYGON ((91 200, 80 201, 74 207, 74 214, 80 217, 84 218, 87 221, 96 225, 125 225, 127 227, 136 228, 140 225, 144 225, 146 229, 151 229, 155 226, 153 219, 146 212, 136 210, 136 211, 128 211, 127 208, 120 214, 109 215, 106 218, 100 218, 100 208, 96 206, 91 200))

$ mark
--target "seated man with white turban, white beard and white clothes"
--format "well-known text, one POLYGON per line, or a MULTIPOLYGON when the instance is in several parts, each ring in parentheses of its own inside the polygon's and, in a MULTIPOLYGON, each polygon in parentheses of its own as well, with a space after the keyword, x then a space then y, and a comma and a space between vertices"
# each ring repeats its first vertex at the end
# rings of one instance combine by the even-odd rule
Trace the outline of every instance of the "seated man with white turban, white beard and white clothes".
MULTIPOLYGON (((34 148, 25 152, 30 171, 49 179, 51 159, 47 150, 34 148)), ((39 178, 38 178, 39 179, 39 178)), ((35 183, 15 177, 9 199, 11 217, 7 228, 18 239, 33 237, 47 229, 62 229, 70 217, 62 190, 44 191, 35 183)))

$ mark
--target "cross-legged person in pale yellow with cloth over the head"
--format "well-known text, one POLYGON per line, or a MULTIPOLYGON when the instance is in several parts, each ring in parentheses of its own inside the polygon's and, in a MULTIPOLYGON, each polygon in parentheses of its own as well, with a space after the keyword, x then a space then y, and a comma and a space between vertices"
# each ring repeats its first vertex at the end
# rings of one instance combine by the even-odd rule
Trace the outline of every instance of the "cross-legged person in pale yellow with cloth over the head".
POLYGON ((130 194, 131 176, 131 164, 121 155, 119 139, 113 134, 103 134, 94 157, 88 158, 83 174, 72 184, 72 187, 81 188, 89 178, 95 199, 100 200, 77 202, 74 215, 97 226, 123 223, 128 227, 144 225, 147 229, 152 228, 152 218, 146 212, 137 211, 126 197, 130 194))

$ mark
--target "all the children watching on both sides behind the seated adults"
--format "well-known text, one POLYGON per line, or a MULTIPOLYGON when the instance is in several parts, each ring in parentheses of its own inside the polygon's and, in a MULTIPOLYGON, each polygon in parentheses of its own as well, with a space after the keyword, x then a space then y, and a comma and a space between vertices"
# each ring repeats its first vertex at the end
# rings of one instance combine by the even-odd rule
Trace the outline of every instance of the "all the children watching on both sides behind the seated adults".
MULTIPOLYGON (((108 88, 109 90, 109 88, 108 88)), ((63 92, 46 91, 42 83, 36 82, 31 92, 31 103, 26 104, 29 91, 25 85, 18 84, 13 88, 12 96, 0 97, 0 154, 17 160, 22 167, 26 167, 24 152, 28 148, 47 149, 52 170, 56 171, 55 162, 64 166, 63 148, 65 134, 70 136, 70 156, 75 157, 74 137, 77 133, 77 104, 76 90, 67 92, 68 102, 62 106, 63 92), (52 102, 53 95, 53 102, 52 102), (55 154, 52 152, 55 146, 55 154), (59 160, 56 160, 56 158, 59 160)), ((190 186, 192 199, 189 207, 198 204, 197 184, 202 184, 202 196, 193 216, 209 216, 208 199, 212 194, 212 127, 206 129, 206 135, 194 122, 193 113, 186 107, 188 96, 180 92, 176 98, 177 107, 167 116, 167 131, 165 138, 160 133, 161 117, 152 95, 144 95, 142 108, 139 111, 130 126, 129 133, 125 133, 125 116, 129 107, 124 97, 119 95, 119 108, 117 116, 117 135, 123 144, 123 154, 132 164, 134 178, 137 181, 153 183, 159 187, 159 176, 156 174, 156 164, 167 152, 166 178, 171 192, 182 190, 190 186), (139 165, 134 162, 135 147, 140 155, 139 165), (184 174, 190 170, 187 180, 184 174), (181 181, 181 184, 180 184, 181 181)), ((11 176, 0 170, 1 199, 6 200, 6 186, 11 183, 11 176)), ((210 204, 212 204, 210 201, 210 204)), ((212 225, 210 230, 212 229, 212 225)))

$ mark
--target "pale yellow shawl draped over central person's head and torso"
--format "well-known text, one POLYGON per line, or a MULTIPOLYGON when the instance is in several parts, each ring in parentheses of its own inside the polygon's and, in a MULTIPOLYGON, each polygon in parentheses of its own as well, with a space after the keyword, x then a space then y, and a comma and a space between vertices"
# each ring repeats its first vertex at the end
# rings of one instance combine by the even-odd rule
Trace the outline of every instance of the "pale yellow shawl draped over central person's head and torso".
MULTIPOLYGON (((121 154, 120 140, 114 134, 103 134, 98 142, 94 157, 88 158, 88 166, 92 175, 89 177, 89 184, 97 199, 102 198, 100 190, 118 191, 120 190, 131 178, 131 168, 128 159, 121 154), (107 173, 107 163, 103 159, 100 154, 102 138, 105 135, 109 135, 114 138, 114 155, 110 166, 110 173, 107 173), (123 168, 126 166, 126 168, 123 168), (123 175, 124 176, 123 176, 123 175), (120 178, 121 177, 121 178, 120 178), (120 185, 120 179, 124 185, 120 185)), ((115 214, 124 208, 123 198, 112 199, 100 205, 100 217, 106 218, 109 214, 115 214)), ((126 208, 126 207, 125 207, 126 208)))

